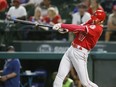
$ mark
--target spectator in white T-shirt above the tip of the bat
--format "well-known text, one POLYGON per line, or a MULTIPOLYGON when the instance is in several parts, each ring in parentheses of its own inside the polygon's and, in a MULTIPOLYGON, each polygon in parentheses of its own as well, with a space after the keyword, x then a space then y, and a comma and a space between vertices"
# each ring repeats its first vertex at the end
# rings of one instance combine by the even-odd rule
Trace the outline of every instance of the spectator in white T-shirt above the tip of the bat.
POLYGON ((8 13, 7 13, 7 18, 17 18, 17 19, 26 19, 27 12, 26 9, 20 5, 19 0, 13 0, 13 6, 10 7, 8 13))

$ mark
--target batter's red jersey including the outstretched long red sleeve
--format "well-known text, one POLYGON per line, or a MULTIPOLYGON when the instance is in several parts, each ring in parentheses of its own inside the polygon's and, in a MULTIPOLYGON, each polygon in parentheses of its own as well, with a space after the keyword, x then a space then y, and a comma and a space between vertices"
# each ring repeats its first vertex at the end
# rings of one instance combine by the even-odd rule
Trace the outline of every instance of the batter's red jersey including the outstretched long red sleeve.
POLYGON ((68 29, 69 32, 76 34, 73 43, 80 45, 87 50, 91 50, 97 43, 98 39, 102 34, 102 26, 100 25, 73 25, 73 24, 62 24, 63 29, 68 29))

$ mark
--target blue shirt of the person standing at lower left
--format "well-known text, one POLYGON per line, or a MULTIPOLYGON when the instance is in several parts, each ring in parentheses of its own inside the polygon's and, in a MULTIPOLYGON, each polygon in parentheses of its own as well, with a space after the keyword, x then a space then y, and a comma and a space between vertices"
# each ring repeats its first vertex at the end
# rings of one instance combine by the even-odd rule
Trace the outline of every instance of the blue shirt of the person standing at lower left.
POLYGON ((14 72, 17 76, 5 81, 3 87, 20 87, 20 67, 19 59, 11 59, 10 61, 7 60, 5 62, 3 75, 8 75, 14 72))

